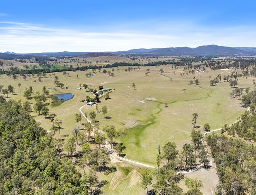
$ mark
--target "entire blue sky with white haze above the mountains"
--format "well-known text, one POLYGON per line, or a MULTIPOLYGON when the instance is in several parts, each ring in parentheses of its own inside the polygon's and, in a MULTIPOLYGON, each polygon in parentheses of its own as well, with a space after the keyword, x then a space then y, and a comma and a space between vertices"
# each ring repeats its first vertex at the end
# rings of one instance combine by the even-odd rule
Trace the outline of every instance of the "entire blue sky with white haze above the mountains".
POLYGON ((0 52, 256 47, 253 0, 9 0, 0 52))

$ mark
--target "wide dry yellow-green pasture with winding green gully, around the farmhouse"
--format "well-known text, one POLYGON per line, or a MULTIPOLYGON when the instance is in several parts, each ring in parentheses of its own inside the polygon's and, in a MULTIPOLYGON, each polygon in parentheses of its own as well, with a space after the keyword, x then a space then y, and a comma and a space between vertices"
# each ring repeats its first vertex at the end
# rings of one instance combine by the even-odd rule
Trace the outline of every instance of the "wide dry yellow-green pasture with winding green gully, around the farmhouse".
MULTIPOLYGON (((79 108, 85 104, 80 102, 86 99, 86 96, 93 97, 90 92, 84 89, 77 90, 79 84, 88 84, 89 88, 98 89, 98 86, 110 87, 112 92, 110 98, 105 100, 101 98, 98 103, 99 111, 102 106, 108 107, 104 119, 102 113, 97 113, 96 120, 100 122, 100 127, 105 125, 115 125, 121 136, 122 141, 127 149, 125 153, 130 159, 155 165, 155 156, 157 147, 163 146, 168 141, 177 143, 178 148, 191 140, 192 131, 192 113, 197 112, 198 125, 200 130, 205 123, 209 123, 211 129, 222 127, 224 124, 232 123, 241 113, 245 111, 237 99, 231 99, 229 93, 233 90, 227 82, 221 82, 216 86, 210 86, 209 76, 215 78, 217 74, 228 75, 231 70, 207 70, 208 72, 185 74, 183 69, 172 69, 171 66, 163 66, 164 75, 160 75, 160 67, 149 67, 150 72, 146 76, 147 67, 141 67, 140 70, 125 72, 127 67, 119 67, 120 71, 115 68, 115 76, 111 77, 104 73, 97 73, 92 77, 86 77, 85 74, 90 71, 70 71, 69 76, 64 76, 62 72, 56 73, 60 82, 64 83, 66 89, 55 87, 49 89, 51 94, 73 93, 74 97, 62 103, 59 106, 49 106, 50 113, 57 114, 57 118, 63 121, 61 135, 68 136, 74 127, 75 114, 79 113, 79 108), (174 75, 175 70, 175 75, 174 75), (78 78, 76 75, 79 75, 78 78), (193 77, 199 79, 199 85, 188 85, 193 77), (133 89, 132 83, 135 83, 136 90, 133 89), (115 89, 115 90, 114 90, 115 89), (186 89, 186 94, 182 89, 186 89), (146 100, 154 98, 154 101, 146 100), (165 103, 168 107, 165 107, 165 103)), ((110 71, 112 69, 109 69, 110 71)), ((186 73, 186 71, 185 71, 186 73)), ((6 88, 11 84, 15 87, 15 95, 11 99, 22 99, 23 91, 26 87, 32 86, 34 91, 41 91, 43 86, 54 87, 54 76, 47 74, 42 78, 42 82, 34 83, 35 78, 28 78, 26 81, 21 77, 17 80, 10 79, 2 75, 0 83, 6 88), (21 83, 21 92, 19 92, 18 83, 21 83)), ((238 87, 252 86, 253 78, 238 78, 238 87)), ((34 100, 30 100, 33 105, 34 100)), ((48 100, 47 102, 51 102, 48 100)), ((89 113, 96 111, 95 105, 84 107, 83 112, 89 113)), ((32 112, 36 121, 49 130, 51 122, 32 112)), ((82 122, 85 122, 82 119, 82 122)), ((81 128, 81 125, 79 125, 81 128)), ((203 131, 203 130, 202 130, 203 131)), ((58 133, 56 134, 58 137, 58 133)))

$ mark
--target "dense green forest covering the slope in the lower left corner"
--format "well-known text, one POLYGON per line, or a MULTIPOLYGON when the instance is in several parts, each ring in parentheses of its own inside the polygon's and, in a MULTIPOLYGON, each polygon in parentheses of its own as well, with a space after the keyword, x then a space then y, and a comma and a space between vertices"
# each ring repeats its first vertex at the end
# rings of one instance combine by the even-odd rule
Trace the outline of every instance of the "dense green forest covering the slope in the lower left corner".
POLYGON ((81 180, 26 107, 0 96, 0 195, 84 195, 81 180))

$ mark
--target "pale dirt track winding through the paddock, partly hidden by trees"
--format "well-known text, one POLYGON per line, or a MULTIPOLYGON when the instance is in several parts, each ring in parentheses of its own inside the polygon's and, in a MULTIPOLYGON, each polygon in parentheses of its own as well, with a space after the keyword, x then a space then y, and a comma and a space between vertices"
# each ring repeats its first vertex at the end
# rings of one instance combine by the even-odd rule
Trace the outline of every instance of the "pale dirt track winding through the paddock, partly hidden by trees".
MULTIPOLYGON (((88 123, 91 124, 91 121, 86 117, 86 115, 83 113, 82 111, 82 108, 84 108, 85 106, 87 106, 86 104, 81 106, 79 108, 79 111, 80 113, 82 114, 82 116, 86 119, 86 121, 88 123)), ((250 107, 247 109, 247 111, 250 110, 250 107)), ((230 125, 228 125, 228 127, 230 127, 231 125, 235 124, 235 123, 238 123, 240 121, 240 118, 237 119, 235 122, 231 123, 230 125)), ((92 125, 92 124, 91 124, 92 125)), ((222 128, 218 128, 218 129, 214 129, 214 130, 211 130, 211 131, 208 131, 208 132, 205 132, 204 133, 204 136, 208 133, 212 133, 212 132, 215 132, 215 131, 220 131, 222 128)), ((112 151, 111 147, 109 144, 105 144, 104 145, 109 151, 112 151)), ((134 166, 138 166, 138 167, 145 167, 145 168, 149 168, 149 169, 154 169, 154 168, 157 168, 157 167, 154 167, 154 166, 151 166, 151 165, 148 165, 148 164, 145 164, 145 163, 141 163, 141 162, 137 162, 137 161, 134 161, 134 160, 130 160, 130 159, 127 159, 127 158, 123 158, 123 157, 120 157, 116 152, 113 152, 112 154, 110 154, 112 158, 114 159, 117 159, 119 161, 123 161, 123 162, 127 162, 131 165, 134 165, 134 166)), ((194 172, 194 171, 197 171, 198 169, 202 168, 203 165, 198 165, 197 167, 193 168, 193 169, 190 169, 190 170, 187 170, 187 171, 180 171, 178 173, 183 173, 183 174, 186 174, 186 173, 191 173, 191 172, 194 172)))

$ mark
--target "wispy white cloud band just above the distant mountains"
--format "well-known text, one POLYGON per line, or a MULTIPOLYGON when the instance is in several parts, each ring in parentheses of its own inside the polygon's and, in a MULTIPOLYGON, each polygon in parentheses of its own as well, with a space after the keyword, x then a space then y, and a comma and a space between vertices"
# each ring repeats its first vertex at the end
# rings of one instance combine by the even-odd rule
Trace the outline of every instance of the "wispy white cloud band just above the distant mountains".
POLYGON ((119 51, 134 48, 197 47, 208 44, 256 46, 256 29, 252 27, 206 28, 190 25, 187 28, 171 26, 164 29, 159 32, 153 28, 149 33, 124 30, 88 32, 28 23, 0 22, 0 52, 119 51))

